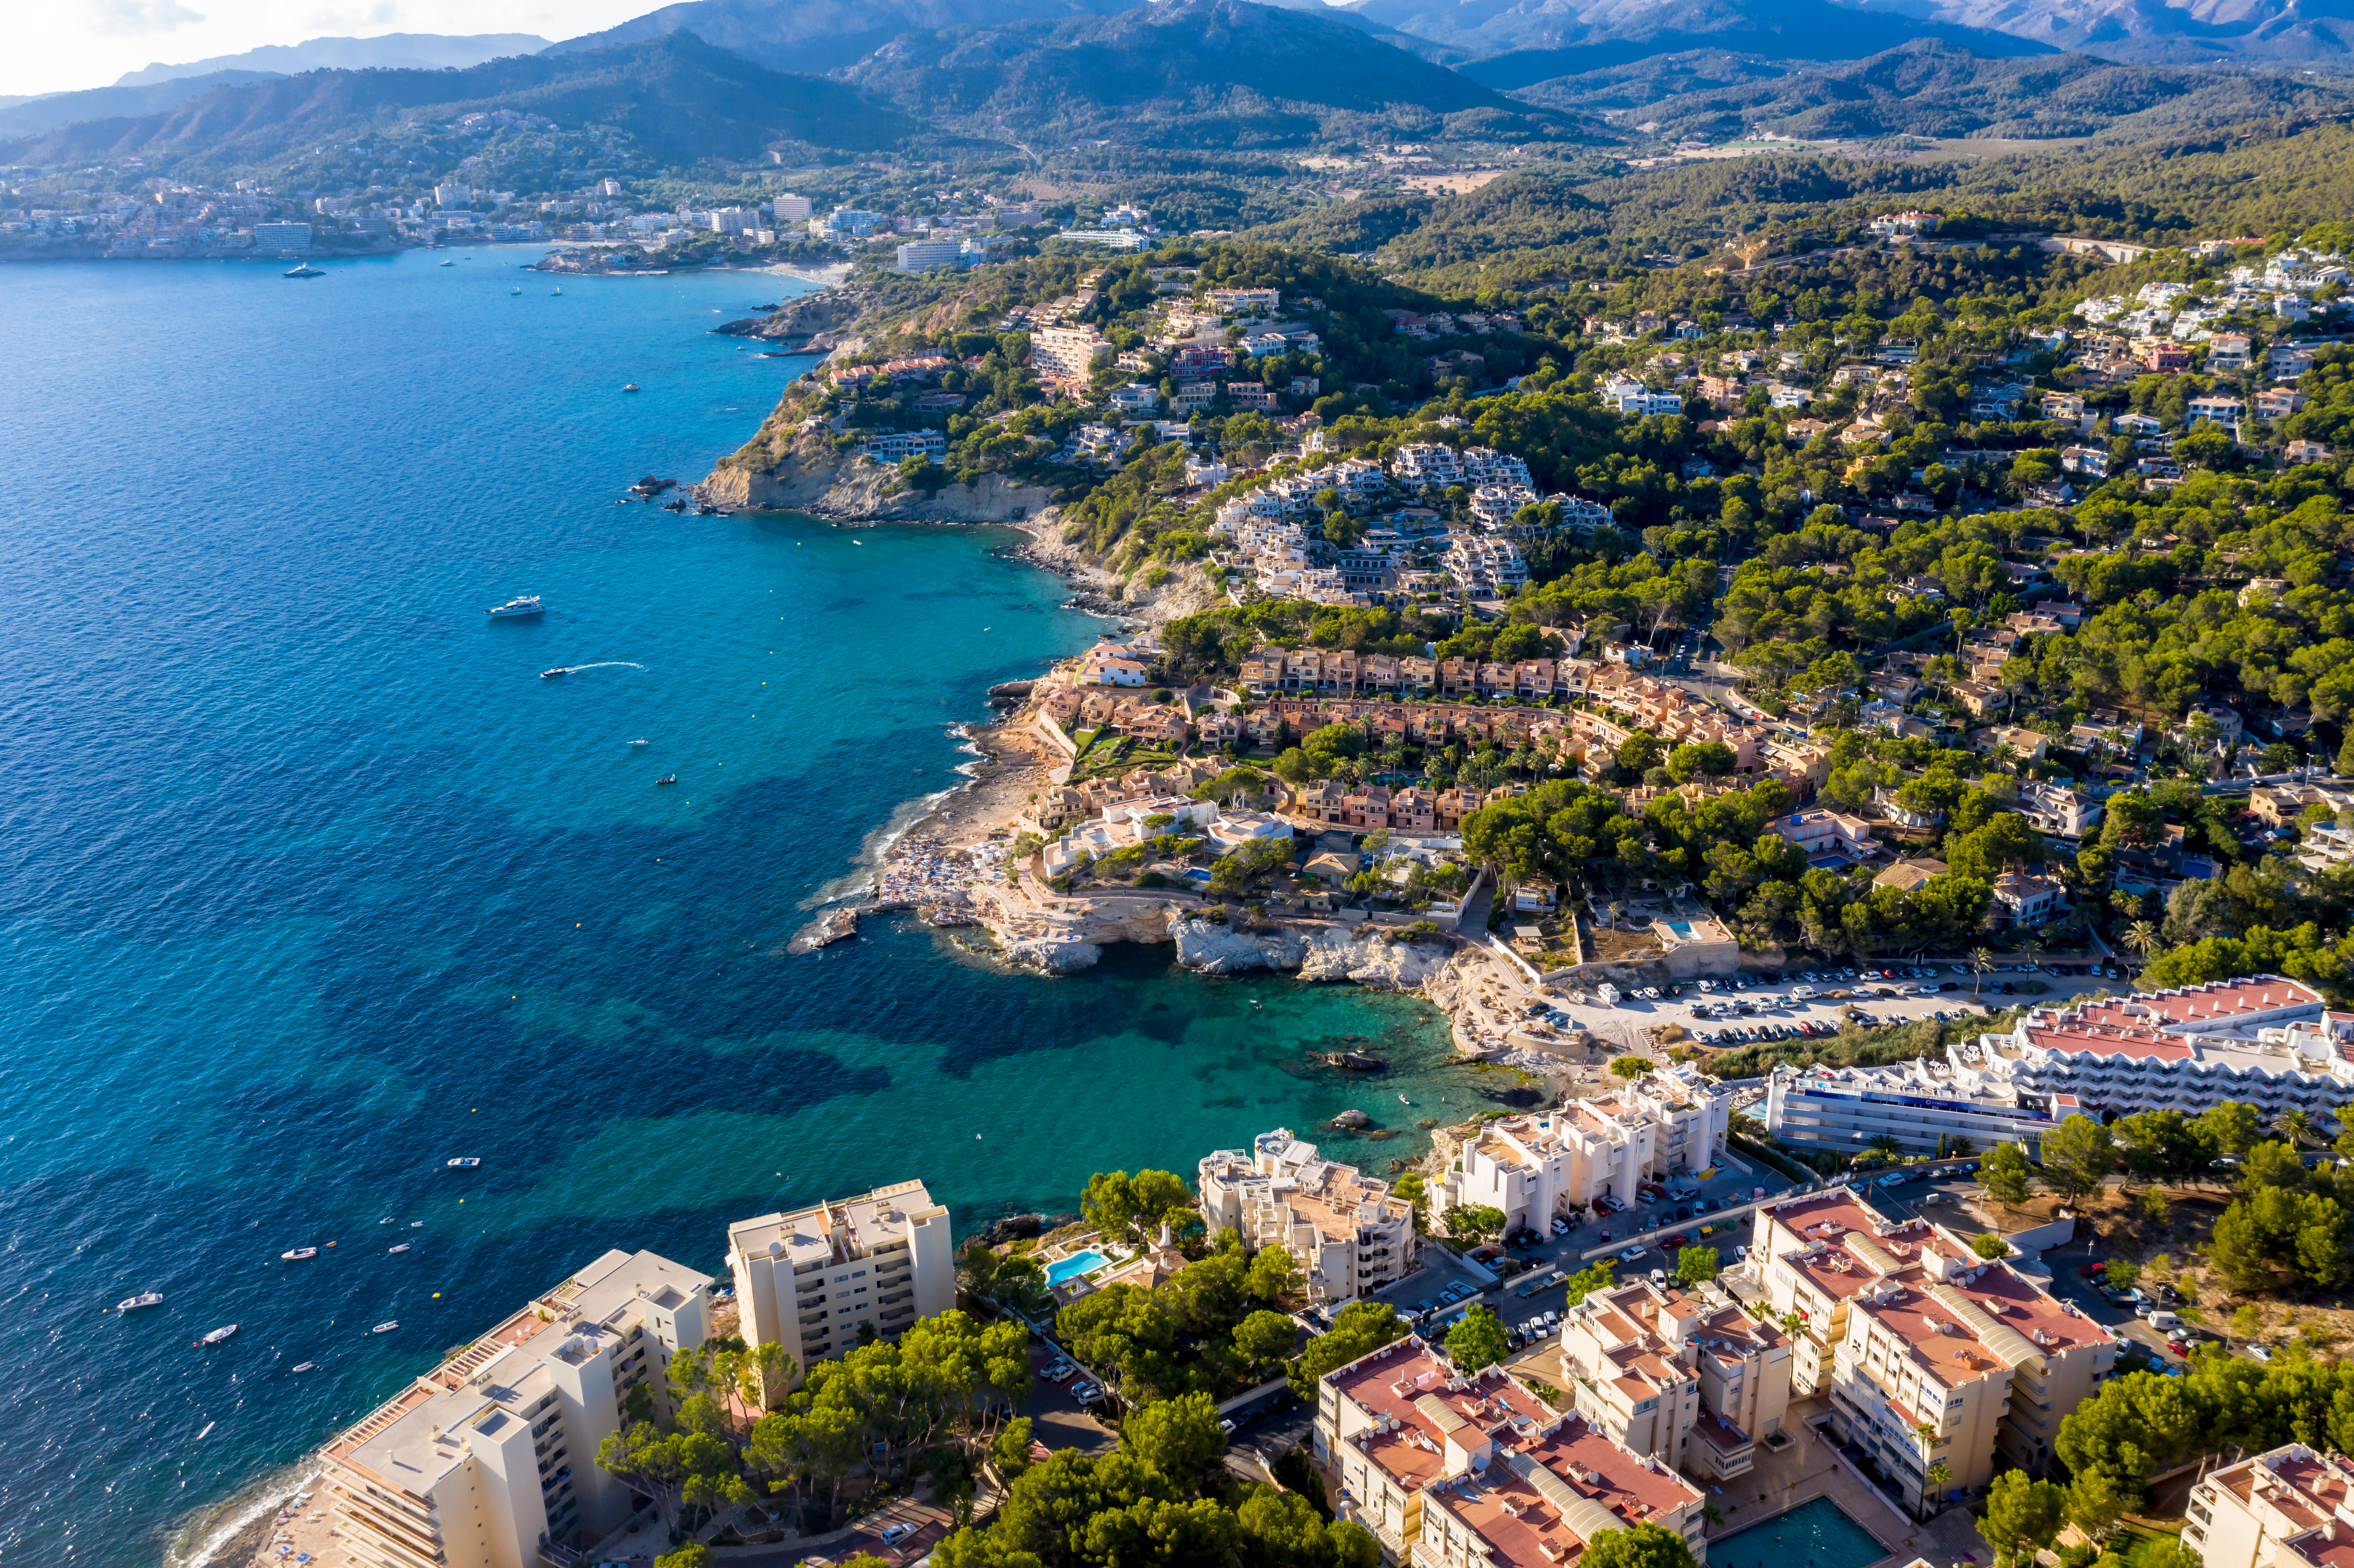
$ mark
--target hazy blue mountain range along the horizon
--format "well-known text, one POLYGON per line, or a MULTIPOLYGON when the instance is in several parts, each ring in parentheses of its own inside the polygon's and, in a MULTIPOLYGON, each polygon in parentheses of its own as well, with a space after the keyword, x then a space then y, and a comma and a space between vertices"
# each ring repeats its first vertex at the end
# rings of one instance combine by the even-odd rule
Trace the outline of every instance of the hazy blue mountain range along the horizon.
POLYGON ((1017 141, 1033 155, 1090 141, 1189 153, 1429 139, 1591 146, 1627 132, 1723 139, 1749 127, 2050 139, 2347 106, 2345 82, 2309 71, 2133 61, 2177 45, 2213 54, 2227 38, 2248 52, 2354 61, 2354 24, 2340 38, 2333 19, 2298 12, 2354 0, 2196 0, 2208 12, 2123 0, 2137 7, 2123 21, 2086 9, 2104 2, 683 0, 546 47, 532 35, 320 38, 151 66, 132 73, 141 80, 0 104, 0 139, 12 139, 0 155, 261 165, 391 113, 466 108, 614 125, 647 155, 690 165, 753 160, 779 144, 859 153, 911 137, 1017 141), (2097 47, 2060 52, 2086 31, 2100 33, 2097 47), (457 68, 384 64, 485 49, 501 54, 457 68), (370 64, 271 75, 266 61, 370 64))

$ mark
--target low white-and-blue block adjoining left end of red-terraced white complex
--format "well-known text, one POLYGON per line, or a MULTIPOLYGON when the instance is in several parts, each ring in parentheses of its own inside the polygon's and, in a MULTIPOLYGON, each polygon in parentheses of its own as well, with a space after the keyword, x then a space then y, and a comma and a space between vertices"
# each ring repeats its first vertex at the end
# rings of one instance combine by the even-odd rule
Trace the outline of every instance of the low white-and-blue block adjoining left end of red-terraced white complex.
POLYGON ((1904 1154, 1937 1154, 1951 1140, 1968 1140, 1970 1149, 2027 1144, 2034 1151, 2053 1121, 2050 1095, 2013 1085, 1961 1088, 1942 1062, 1777 1067, 1766 1081, 1766 1130, 1794 1144, 1864 1149, 1876 1137, 1893 1137, 1904 1154))

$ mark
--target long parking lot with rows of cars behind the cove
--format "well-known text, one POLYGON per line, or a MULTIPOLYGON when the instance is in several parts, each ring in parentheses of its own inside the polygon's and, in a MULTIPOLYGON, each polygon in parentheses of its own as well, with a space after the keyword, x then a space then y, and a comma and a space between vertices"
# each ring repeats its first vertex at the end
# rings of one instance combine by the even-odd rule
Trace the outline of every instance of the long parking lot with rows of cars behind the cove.
MULTIPOLYGON (((1883 965, 1878 970, 1813 970, 1728 975, 1681 982, 1657 996, 1627 994, 1615 1003, 1591 989, 1551 994, 1544 1005, 1558 1026, 1587 1029, 1629 1050, 1645 1048, 1641 1031, 1681 1024, 1704 1045, 1744 1045, 1751 1038, 1836 1031, 1846 1010, 1857 1022, 1911 1024, 1923 1017, 1980 1017, 2022 1001, 2062 1003, 2095 991, 2130 991, 2119 972, 2090 963, 1999 965, 1973 975, 1963 963, 1883 965), (1975 982, 1975 996, 1973 996, 1975 982)), ((1528 1003, 1537 1005, 1537 1003, 1528 1003)))

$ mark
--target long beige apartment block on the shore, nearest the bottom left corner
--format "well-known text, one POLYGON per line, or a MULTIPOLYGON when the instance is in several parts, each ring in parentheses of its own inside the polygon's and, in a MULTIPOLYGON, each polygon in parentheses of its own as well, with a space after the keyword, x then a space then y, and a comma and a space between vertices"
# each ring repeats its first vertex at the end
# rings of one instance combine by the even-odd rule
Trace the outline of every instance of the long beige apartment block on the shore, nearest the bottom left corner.
POLYGON ((704 1342, 711 1276, 612 1250, 327 1443, 320 1493, 358 1568, 539 1568, 619 1530, 598 1443, 704 1342))

